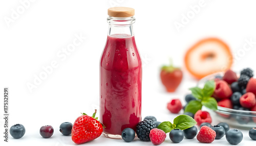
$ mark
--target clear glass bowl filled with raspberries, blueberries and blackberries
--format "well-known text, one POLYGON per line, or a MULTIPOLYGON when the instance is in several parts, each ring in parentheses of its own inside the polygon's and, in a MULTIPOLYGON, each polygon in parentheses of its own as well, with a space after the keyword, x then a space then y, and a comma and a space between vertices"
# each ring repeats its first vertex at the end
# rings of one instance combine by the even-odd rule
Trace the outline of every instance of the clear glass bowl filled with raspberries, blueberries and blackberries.
POLYGON ((215 81, 212 97, 218 102, 217 110, 209 109, 211 116, 238 128, 256 127, 256 79, 250 68, 241 72, 227 70, 211 74, 198 82, 202 87, 215 81))

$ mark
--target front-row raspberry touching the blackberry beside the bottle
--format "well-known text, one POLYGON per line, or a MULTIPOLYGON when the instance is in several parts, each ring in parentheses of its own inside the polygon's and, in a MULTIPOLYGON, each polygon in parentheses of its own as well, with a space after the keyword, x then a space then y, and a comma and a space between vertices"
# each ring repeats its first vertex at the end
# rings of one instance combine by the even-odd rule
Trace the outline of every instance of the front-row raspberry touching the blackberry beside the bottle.
POLYGON ((159 145, 163 143, 165 138, 166 138, 166 134, 161 129, 154 128, 150 131, 150 140, 155 145, 159 145))

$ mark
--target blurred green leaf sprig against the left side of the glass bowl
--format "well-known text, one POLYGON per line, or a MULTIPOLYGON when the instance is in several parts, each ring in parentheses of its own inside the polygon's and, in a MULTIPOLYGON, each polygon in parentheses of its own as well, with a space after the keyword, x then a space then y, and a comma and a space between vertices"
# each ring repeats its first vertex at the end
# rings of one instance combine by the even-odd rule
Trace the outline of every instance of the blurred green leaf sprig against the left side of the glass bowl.
POLYGON ((184 112, 196 113, 198 110, 205 106, 212 110, 217 110, 217 101, 211 97, 215 90, 214 80, 209 80, 205 83, 204 88, 199 87, 190 88, 192 95, 197 99, 190 101, 184 112))

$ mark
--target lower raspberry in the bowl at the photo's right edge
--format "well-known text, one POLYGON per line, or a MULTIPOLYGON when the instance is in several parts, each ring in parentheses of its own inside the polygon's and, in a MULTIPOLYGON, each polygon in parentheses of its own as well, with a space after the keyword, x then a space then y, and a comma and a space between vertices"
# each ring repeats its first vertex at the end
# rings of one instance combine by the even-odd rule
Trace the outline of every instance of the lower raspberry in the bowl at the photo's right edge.
POLYGON ((252 92, 247 92, 241 96, 239 102, 244 108, 252 108, 256 104, 255 95, 252 92))

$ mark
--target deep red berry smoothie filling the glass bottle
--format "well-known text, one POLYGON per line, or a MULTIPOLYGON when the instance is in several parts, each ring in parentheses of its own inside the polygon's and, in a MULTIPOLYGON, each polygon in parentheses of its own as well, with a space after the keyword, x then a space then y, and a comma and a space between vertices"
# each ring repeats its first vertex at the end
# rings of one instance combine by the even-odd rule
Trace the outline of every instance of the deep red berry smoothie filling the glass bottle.
POLYGON ((141 120, 141 71, 134 36, 108 36, 100 60, 100 121, 105 134, 136 131, 141 120))

